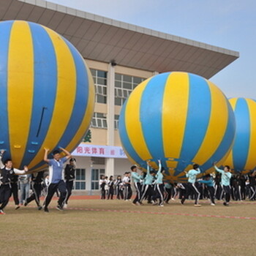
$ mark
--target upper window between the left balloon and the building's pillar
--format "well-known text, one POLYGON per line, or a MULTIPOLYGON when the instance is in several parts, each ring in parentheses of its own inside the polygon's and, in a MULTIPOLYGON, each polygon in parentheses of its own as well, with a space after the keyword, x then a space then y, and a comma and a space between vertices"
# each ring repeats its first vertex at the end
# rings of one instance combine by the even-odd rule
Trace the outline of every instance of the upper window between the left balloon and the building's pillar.
POLYGON ((94 78, 96 102, 107 103, 107 72, 97 69, 91 69, 91 75, 94 78))

